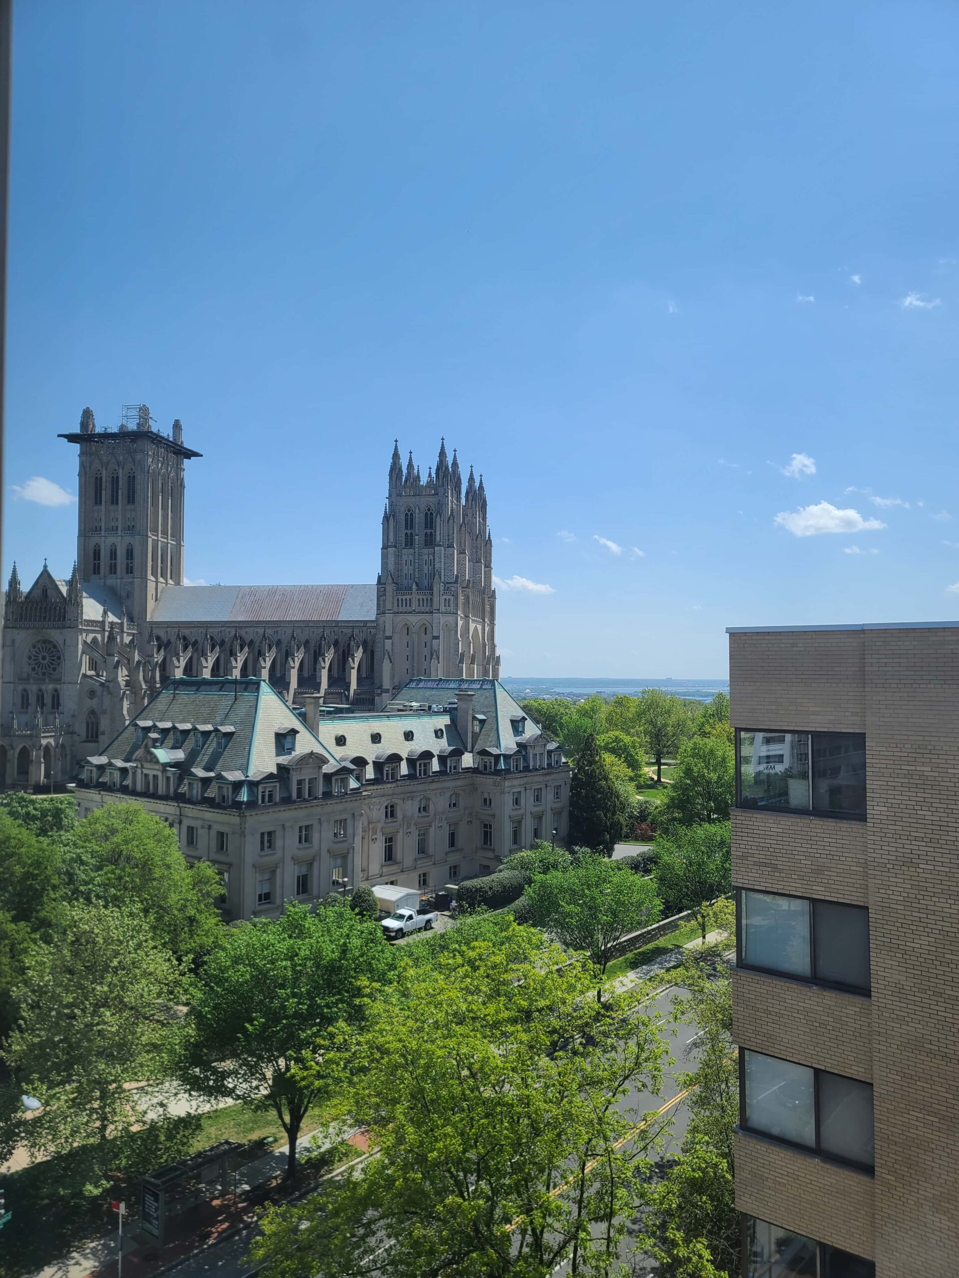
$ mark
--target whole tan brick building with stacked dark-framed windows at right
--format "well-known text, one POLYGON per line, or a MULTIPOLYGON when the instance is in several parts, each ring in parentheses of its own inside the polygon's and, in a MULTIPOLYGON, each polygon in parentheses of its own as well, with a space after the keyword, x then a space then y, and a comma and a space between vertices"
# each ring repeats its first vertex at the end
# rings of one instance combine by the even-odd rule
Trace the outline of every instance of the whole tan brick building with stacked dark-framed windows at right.
POLYGON ((730 630, 747 1278, 959 1273, 959 624, 730 630))

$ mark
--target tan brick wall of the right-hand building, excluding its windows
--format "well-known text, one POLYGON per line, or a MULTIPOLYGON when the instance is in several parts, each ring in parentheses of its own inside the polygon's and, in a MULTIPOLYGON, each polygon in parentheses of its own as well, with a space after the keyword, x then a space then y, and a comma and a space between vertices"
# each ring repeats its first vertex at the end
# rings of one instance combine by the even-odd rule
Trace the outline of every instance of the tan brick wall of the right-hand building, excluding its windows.
POLYGON ((731 635, 730 698, 737 727, 866 734, 867 822, 735 813, 733 881, 867 905, 872 998, 738 973, 734 1026, 757 1051, 871 1077, 876 1116, 875 1181, 740 1137, 738 1204, 875 1256, 877 1278, 951 1278, 959 1273, 959 629, 731 635), (850 1176, 854 1194, 839 1187, 850 1176))

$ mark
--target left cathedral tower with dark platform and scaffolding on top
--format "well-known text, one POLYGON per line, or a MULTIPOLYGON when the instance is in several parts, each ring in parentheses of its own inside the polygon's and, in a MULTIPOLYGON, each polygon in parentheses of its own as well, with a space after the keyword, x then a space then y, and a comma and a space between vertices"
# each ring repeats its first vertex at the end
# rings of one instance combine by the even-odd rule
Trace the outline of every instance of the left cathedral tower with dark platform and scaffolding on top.
POLYGON ((165 585, 183 585, 183 463, 201 456, 152 429, 146 404, 124 408, 116 431, 97 431, 84 408, 79 445, 77 565, 84 583, 109 587, 143 624, 165 585))

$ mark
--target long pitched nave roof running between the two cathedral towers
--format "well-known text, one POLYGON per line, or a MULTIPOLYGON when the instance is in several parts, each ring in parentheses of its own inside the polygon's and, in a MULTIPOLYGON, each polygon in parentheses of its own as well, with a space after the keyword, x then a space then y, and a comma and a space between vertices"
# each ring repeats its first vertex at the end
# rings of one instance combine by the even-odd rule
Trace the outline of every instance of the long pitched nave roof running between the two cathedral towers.
POLYGON ((151 621, 375 621, 375 585, 168 585, 151 621))

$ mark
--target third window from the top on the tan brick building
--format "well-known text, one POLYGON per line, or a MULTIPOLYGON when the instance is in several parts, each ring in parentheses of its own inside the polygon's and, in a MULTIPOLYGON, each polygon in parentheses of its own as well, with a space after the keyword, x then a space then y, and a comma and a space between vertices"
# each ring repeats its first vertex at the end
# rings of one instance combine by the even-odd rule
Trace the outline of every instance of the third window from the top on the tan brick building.
POLYGON ((739 1053, 739 1074, 744 1130, 872 1169, 869 1082, 745 1049, 739 1053))

